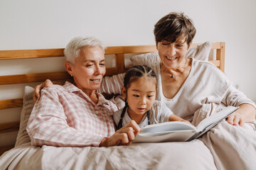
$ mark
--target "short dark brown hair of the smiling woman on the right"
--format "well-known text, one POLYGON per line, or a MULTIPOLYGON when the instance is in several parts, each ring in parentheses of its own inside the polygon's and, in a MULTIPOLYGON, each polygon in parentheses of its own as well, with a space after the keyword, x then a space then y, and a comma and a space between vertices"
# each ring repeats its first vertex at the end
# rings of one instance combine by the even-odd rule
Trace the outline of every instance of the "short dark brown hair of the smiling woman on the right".
POLYGON ((183 13, 169 13, 161 18, 154 26, 156 44, 158 42, 176 42, 180 38, 186 38, 188 47, 196 35, 193 21, 183 13))

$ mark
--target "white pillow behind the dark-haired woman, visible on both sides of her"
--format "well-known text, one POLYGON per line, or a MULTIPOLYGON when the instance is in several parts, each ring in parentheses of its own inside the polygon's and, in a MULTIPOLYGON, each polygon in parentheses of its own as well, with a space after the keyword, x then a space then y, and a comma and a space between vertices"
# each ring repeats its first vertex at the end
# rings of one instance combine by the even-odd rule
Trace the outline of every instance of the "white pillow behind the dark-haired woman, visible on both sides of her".
MULTIPOLYGON (((196 47, 191 47, 186 54, 187 58, 194 58, 196 60, 208 61, 209 53, 210 53, 211 43, 204 42, 201 45, 196 45, 196 47)), ((136 64, 151 64, 160 62, 159 53, 149 52, 142 55, 134 55, 129 58, 133 65, 136 64)))

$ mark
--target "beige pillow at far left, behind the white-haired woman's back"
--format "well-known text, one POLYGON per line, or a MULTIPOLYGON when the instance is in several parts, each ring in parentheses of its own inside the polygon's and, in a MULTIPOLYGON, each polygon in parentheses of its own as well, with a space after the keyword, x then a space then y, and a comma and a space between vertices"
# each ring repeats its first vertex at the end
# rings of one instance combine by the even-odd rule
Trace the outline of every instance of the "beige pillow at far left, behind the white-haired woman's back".
POLYGON ((31 86, 25 86, 23 96, 23 108, 21 110, 20 128, 18 130, 15 147, 18 147, 24 143, 31 142, 28 136, 28 132, 26 131, 26 126, 28 124, 28 118, 31 115, 31 111, 34 106, 33 91, 34 89, 31 86))

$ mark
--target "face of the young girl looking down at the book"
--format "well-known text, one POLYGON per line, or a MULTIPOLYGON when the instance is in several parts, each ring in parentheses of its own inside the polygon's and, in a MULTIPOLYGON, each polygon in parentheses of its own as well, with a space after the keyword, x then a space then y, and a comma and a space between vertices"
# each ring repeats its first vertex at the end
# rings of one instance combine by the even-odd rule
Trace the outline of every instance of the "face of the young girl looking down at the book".
POLYGON ((124 97, 129 105, 128 114, 133 120, 139 118, 139 122, 146 111, 153 106, 156 98, 156 80, 151 77, 141 77, 133 81, 126 91, 122 87, 124 97))

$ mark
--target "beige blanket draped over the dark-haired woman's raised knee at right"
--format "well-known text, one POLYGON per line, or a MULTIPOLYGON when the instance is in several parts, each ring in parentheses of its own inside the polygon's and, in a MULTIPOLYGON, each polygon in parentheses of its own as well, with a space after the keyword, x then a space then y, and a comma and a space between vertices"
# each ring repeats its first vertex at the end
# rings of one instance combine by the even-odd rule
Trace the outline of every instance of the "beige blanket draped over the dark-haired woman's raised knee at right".
MULTIPOLYGON (((193 125, 210 114, 218 114, 224 106, 204 104, 196 111, 193 125)), ((245 127, 233 126, 223 120, 200 138, 213 154, 218 169, 256 169, 256 120, 245 127)))

